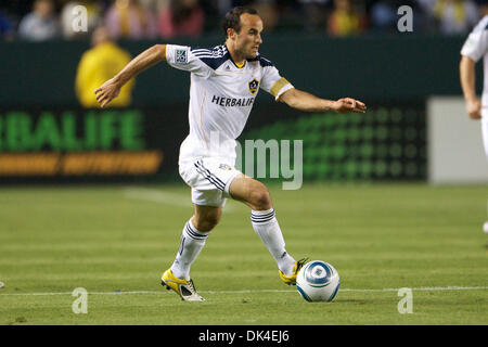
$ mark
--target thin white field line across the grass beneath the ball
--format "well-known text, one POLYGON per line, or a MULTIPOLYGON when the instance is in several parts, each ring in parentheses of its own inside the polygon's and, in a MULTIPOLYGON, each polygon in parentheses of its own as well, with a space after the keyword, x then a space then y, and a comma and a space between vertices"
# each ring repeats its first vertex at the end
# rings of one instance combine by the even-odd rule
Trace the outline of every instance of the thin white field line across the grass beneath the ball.
MULTIPOLYGON (((354 290, 344 288, 339 292, 350 293, 385 293, 398 292, 400 288, 378 288, 378 290, 354 290)), ((445 292, 445 291, 486 291, 488 286, 432 286, 432 287, 414 287, 414 292, 445 292)), ((253 294, 253 293, 295 293, 293 290, 243 290, 243 291, 198 291, 202 294, 253 294)), ((136 294, 168 294, 169 291, 134 291, 134 292, 88 292, 89 295, 136 295, 136 294)), ((72 295, 72 292, 60 293, 4 293, 0 296, 55 296, 72 295)))

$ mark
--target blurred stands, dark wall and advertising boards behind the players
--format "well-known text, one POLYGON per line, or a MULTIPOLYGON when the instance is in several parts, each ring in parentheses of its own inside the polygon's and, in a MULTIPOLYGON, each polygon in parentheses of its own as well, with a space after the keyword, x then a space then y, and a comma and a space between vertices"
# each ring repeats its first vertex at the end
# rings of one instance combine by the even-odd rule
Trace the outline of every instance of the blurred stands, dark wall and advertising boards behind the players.
POLYGON ((13 0, 0 4, 0 182, 181 182, 188 76, 159 64, 107 110, 93 90, 154 43, 221 44, 235 5, 258 10, 260 53, 297 88, 369 105, 304 114, 261 92, 241 141, 304 140, 305 181, 487 181, 459 82, 486 1, 13 0))

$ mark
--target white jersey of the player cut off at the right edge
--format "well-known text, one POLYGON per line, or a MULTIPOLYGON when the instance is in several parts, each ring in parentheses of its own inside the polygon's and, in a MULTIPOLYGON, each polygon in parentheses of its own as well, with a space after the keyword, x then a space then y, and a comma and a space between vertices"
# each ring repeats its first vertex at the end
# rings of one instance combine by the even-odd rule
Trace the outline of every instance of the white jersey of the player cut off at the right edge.
POLYGON ((470 56, 475 62, 478 62, 483 56, 485 81, 481 104, 488 106, 488 15, 484 16, 470 34, 461 54, 470 56))

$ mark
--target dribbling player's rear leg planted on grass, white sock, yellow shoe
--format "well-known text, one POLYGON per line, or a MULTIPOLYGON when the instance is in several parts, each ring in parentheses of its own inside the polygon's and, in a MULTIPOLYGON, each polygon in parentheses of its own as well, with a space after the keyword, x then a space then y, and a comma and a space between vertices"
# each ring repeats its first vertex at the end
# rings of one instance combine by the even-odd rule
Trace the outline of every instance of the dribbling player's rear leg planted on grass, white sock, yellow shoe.
POLYGON ((183 300, 203 301, 190 278, 190 268, 205 246, 211 229, 219 222, 222 207, 194 206, 195 214, 184 224, 180 248, 171 268, 163 273, 162 284, 177 292, 183 300))

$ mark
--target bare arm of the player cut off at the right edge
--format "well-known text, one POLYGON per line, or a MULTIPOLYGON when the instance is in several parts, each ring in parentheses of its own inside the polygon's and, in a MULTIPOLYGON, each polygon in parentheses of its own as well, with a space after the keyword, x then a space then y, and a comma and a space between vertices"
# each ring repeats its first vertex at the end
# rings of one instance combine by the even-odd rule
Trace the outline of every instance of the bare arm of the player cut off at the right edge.
POLYGON ((476 97, 475 90, 475 64, 467 55, 462 55, 459 64, 461 87, 463 89, 464 100, 466 101, 466 112, 472 119, 481 118, 481 102, 476 97))

